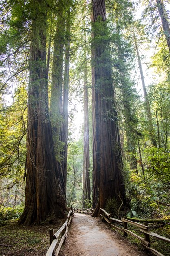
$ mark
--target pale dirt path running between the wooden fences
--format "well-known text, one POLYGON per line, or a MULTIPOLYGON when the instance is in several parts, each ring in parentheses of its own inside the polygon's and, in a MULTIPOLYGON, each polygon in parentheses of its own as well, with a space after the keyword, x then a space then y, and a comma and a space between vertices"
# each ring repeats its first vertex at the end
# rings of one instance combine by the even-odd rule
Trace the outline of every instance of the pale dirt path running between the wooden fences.
POLYGON ((146 256, 100 218, 75 213, 59 256, 146 256))

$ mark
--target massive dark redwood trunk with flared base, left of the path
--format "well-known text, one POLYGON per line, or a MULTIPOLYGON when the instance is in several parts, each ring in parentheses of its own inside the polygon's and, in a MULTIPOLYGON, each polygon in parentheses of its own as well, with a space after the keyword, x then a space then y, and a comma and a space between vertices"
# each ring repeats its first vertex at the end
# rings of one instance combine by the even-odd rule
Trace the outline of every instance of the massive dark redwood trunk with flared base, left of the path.
POLYGON ((30 47, 26 196, 25 209, 19 220, 19 224, 25 225, 40 223, 51 214, 65 216, 62 210, 65 199, 59 195, 58 169, 48 113, 45 1, 35 0, 33 9, 37 12, 33 16, 30 47))

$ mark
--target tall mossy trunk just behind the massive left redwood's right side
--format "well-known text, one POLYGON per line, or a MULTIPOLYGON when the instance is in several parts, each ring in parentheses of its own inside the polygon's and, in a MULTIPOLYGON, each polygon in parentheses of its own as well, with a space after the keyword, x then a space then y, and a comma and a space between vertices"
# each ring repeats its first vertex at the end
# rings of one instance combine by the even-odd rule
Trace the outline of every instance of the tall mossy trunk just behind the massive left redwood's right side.
POLYGON ((59 169, 59 182, 66 197, 66 175, 63 169, 62 161, 65 156, 62 155, 63 143, 61 142, 61 130, 64 122, 62 115, 63 102, 63 61, 64 61, 64 42, 65 42, 65 18, 64 2, 60 1, 57 5, 58 15, 56 32, 54 37, 54 53, 52 63, 52 85, 50 100, 50 117, 52 123, 52 137, 54 141, 55 157, 59 169))

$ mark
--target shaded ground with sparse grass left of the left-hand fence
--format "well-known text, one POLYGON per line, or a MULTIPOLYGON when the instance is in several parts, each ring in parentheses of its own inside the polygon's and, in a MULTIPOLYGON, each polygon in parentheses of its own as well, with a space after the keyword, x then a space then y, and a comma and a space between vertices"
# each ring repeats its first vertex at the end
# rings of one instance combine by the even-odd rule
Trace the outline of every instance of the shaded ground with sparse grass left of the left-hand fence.
POLYGON ((49 229, 56 231, 61 227, 61 220, 55 224, 17 225, 16 220, 3 221, 0 227, 0 255, 7 256, 42 256, 49 248, 49 229))

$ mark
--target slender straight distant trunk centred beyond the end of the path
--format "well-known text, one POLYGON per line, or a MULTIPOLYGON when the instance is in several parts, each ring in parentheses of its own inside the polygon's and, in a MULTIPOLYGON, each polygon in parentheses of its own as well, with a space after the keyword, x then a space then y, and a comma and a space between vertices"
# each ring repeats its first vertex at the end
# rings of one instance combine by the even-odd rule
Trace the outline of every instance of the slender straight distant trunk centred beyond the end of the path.
POLYGON ((85 50, 84 63, 84 152, 83 152, 83 208, 90 202, 89 178, 89 114, 88 114, 88 87, 87 87, 87 62, 85 50))

